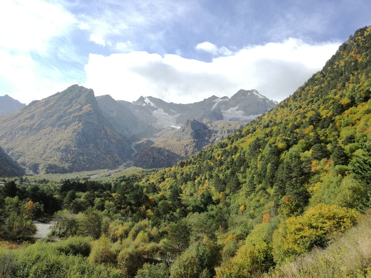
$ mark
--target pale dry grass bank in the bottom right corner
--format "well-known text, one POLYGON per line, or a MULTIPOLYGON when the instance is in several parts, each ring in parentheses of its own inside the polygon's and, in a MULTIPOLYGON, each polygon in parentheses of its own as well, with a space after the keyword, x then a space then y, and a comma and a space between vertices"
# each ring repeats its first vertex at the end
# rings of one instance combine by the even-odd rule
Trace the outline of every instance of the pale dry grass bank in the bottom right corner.
POLYGON ((334 236, 329 246, 296 258, 266 277, 365 277, 371 265, 371 212, 363 215, 358 225, 334 236))

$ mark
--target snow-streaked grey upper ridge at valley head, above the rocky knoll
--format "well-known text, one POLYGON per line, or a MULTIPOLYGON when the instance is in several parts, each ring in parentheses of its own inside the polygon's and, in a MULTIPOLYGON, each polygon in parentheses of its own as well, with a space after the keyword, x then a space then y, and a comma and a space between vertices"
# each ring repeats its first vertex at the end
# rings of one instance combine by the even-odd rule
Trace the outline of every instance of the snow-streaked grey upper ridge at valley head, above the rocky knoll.
POLYGON ((129 103, 119 100, 138 118, 162 126, 180 127, 186 120, 250 121, 277 105, 256 90, 239 90, 232 97, 211 96, 190 104, 167 103, 155 97, 139 97, 129 103))

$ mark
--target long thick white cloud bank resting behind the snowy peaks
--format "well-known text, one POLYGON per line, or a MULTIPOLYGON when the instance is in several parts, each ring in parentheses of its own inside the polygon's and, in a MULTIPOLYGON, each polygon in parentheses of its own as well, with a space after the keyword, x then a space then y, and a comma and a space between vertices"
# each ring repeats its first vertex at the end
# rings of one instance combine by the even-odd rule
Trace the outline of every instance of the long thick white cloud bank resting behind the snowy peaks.
POLYGON ((246 47, 210 63, 174 54, 90 54, 84 86, 94 89, 96 95, 128 101, 151 95, 190 103, 211 95, 231 96, 239 89, 257 89, 270 99, 282 100, 321 69, 338 45, 288 39, 246 47))

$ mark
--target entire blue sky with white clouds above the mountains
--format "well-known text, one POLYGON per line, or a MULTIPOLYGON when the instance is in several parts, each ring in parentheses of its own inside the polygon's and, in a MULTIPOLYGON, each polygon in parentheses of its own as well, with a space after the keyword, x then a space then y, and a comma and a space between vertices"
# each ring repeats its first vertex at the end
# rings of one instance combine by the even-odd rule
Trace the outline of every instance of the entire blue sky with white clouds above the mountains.
POLYGON ((0 96, 79 84, 193 103, 239 89, 283 100, 354 32, 370 0, 2 0, 0 96))

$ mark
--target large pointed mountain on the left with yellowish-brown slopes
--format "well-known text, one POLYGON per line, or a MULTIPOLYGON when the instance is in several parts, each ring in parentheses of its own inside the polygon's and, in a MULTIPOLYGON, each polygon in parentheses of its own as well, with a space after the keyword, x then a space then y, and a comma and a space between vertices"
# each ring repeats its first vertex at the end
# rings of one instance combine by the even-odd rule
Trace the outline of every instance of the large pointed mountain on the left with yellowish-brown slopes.
POLYGON ((105 125, 93 90, 73 85, 0 117, 0 145, 35 173, 114 168, 131 141, 105 125))

